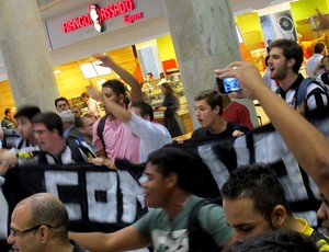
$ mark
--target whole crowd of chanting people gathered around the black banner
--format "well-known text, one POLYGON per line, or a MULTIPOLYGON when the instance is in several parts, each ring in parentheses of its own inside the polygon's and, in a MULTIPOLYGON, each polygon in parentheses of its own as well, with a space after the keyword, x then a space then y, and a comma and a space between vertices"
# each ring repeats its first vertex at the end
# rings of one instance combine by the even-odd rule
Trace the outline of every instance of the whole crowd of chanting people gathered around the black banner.
MULTIPOLYGON (((325 49, 317 44, 314 60, 325 49)), ((217 90, 200 92, 194 103, 201 127, 192 133, 191 139, 179 142, 172 142, 172 137, 184 134, 184 129, 177 116, 179 103, 170 83, 161 83, 166 99, 158 110, 167 116, 163 126, 155 122, 152 107, 144 101, 135 77, 106 55, 94 57, 129 85, 128 106, 123 82, 107 80, 101 91, 91 85, 81 94, 89 110, 83 116, 79 107, 69 107, 65 98, 56 99, 57 113, 43 112, 33 105, 18 108, 13 117, 19 134, 8 134, 5 129, 0 134, 4 144, 0 149, 0 173, 5 177, 15 165, 87 162, 115 170, 116 160, 125 159, 144 164, 139 182, 150 210, 111 233, 69 232, 65 205, 54 195, 35 194, 20 202, 12 211, 8 243, 13 250, 127 251, 151 247, 154 251, 237 252, 290 251, 287 248, 303 247, 304 250, 294 251, 329 251, 326 236, 329 232, 329 141, 313 126, 314 122, 326 122, 329 94, 314 80, 303 91, 300 104, 296 102, 304 81, 298 73, 303 49, 296 42, 271 43, 268 75, 277 84, 275 92, 251 64, 236 61, 215 70, 220 79, 237 78, 241 90, 229 95, 217 90), (203 199, 195 195, 202 180, 200 167, 206 161, 178 146, 192 141, 200 146, 225 141, 231 146, 241 135, 252 134, 248 110, 230 98, 260 102, 300 169, 318 186, 318 199, 322 203, 317 217, 324 229, 317 230, 319 227, 311 227, 307 219, 294 216, 286 192, 290 187, 276 175, 279 164, 250 163, 237 168, 219 160, 232 165, 227 168, 225 183, 218 185, 223 198, 203 199), (102 102, 104 117, 100 117, 95 100, 102 102)), ((314 76, 317 69, 327 71, 325 62, 321 67, 321 62, 310 60, 308 69, 314 76)), ((207 162, 216 169, 214 160, 207 162)))

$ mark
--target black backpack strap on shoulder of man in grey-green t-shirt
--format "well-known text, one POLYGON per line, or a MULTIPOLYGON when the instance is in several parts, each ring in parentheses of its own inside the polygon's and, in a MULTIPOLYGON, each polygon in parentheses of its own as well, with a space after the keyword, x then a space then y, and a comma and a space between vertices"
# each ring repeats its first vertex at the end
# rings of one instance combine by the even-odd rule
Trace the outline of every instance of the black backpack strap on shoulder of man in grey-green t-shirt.
MULTIPOLYGON (((217 199, 214 199, 214 202, 217 199)), ((190 252, 213 252, 220 251, 220 248, 214 239, 202 229, 202 226, 198 220, 198 211, 200 209, 208 204, 214 203, 213 199, 202 199, 194 205, 189 216, 189 251, 190 252)))

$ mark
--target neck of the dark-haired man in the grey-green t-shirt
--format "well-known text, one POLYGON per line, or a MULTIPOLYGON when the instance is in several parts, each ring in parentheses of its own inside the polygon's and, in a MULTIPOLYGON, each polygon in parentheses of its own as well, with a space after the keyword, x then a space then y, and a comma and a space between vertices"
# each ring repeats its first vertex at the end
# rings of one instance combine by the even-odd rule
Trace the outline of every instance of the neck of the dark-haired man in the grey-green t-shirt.
POLYGON ((173 220, 183 210, 190 196, 186 192, 178 191, 172 194, 171 199, 167 201, 163 209, 167 211, 170 220, 173 220))

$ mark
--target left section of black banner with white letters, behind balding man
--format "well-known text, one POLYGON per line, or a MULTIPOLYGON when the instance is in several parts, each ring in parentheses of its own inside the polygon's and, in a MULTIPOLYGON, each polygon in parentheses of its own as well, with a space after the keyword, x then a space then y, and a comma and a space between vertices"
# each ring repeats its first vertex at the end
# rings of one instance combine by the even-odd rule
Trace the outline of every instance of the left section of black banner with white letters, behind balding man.
POLYGON ((147 211, 143 188, 127 171, 88 163, 18 167, 0 182, 0 251, 9 249, 5 239, 14 206, 35 193, 47 192, 59 197, 68 210, 72 231, 112 232, 147 211))

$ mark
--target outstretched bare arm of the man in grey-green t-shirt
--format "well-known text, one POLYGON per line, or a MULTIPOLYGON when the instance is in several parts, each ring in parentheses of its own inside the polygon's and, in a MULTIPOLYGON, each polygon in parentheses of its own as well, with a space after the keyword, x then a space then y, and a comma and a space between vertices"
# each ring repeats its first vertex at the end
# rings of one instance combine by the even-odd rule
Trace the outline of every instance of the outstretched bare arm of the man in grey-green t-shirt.
POLYGON ((126 227, 113 233, 69 232, 69 238, 80 247, 93 252, 128 251, 150 245, 147 239, 134 226, 126 227))

